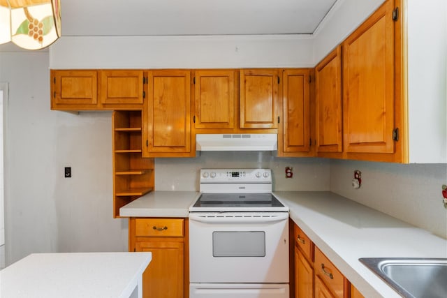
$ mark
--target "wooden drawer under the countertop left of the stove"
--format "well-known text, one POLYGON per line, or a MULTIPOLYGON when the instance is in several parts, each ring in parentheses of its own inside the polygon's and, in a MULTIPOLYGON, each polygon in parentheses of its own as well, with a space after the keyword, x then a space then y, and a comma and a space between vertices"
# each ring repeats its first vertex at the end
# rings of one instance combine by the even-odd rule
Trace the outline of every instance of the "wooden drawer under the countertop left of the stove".
POLYGON ((184 219, 136 218, 136 237, 183 237, 184 219))

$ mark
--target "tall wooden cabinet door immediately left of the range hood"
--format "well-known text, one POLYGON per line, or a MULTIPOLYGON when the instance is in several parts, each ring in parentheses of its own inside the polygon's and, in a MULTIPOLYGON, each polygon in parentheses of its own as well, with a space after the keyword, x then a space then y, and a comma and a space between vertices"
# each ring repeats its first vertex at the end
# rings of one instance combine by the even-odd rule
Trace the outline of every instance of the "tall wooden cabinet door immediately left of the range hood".
POLYGON ((148 98, 143 110, 144 156, 190 156, 190 92, 189 70, 148 72, 148 98))

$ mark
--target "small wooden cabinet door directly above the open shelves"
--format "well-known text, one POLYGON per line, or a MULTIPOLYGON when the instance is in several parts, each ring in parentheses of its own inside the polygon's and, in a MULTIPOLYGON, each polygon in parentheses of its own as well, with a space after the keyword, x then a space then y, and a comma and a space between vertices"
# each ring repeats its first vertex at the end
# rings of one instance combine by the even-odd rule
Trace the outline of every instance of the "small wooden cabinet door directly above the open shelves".
POLYGON ((100 73, 102 104, 142 105, 142 70, 101 70, 100 73))

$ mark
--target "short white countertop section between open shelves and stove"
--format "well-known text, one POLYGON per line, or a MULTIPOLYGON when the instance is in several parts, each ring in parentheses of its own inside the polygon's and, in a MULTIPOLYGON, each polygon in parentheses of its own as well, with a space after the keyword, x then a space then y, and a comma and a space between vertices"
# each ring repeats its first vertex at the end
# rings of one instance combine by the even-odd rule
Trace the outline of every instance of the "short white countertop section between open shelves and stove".
POLYGON ((199 195, 196 191, 152 191, 119 208, 119 216, 186 218, 199 195))

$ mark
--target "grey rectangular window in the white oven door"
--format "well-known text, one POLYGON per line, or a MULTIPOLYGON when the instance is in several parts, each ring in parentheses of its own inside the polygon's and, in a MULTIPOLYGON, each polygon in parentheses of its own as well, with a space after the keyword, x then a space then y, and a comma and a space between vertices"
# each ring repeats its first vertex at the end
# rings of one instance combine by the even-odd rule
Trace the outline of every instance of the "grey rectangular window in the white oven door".
POLYGON ((212 255, 213 257, 265 257, 265 232, 213 232, 212 255))

